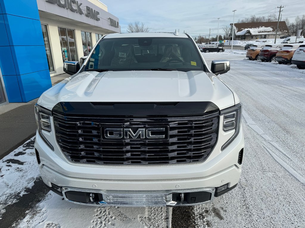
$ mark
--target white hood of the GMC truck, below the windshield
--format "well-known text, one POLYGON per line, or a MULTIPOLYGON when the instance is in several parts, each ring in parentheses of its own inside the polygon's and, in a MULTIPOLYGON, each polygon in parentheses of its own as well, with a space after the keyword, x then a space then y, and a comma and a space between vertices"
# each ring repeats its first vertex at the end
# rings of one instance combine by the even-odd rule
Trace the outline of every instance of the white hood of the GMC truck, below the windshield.
POLYGON ((52 110, 59 102, 199 102, 220 110, 235 105, 232 91, 203 71, 86 71, 47 90, 38 105, 52 110))

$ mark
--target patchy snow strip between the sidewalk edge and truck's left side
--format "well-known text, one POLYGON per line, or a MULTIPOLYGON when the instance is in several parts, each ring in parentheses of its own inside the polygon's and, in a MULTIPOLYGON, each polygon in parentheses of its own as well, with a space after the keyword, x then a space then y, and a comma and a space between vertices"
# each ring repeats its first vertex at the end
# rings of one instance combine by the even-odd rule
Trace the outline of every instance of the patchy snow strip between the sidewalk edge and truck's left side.
POLYGON ((34 151, 35 137, 0 160, 0 211, 16 202, 40 176, 34 151))

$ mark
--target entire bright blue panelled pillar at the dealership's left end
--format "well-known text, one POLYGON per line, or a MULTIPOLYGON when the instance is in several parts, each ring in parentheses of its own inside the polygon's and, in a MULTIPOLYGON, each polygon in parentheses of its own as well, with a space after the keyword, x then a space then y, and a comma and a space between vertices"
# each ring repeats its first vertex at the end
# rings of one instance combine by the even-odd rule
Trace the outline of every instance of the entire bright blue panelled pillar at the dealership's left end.
POLYGON ((27 102, 52 86, 37 2, 0 0, 0 7, 0 67, 6 93, 9 102, 27 102))

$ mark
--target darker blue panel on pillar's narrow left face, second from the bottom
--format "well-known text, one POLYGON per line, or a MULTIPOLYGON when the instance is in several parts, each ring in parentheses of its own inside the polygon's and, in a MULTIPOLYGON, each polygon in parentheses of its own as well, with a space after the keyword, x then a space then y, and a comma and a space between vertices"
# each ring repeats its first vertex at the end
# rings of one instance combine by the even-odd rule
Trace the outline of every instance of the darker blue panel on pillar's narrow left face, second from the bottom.
POLYGON ((0 47, 0 68, 2 75, 16 75, 10 46, 0 47))

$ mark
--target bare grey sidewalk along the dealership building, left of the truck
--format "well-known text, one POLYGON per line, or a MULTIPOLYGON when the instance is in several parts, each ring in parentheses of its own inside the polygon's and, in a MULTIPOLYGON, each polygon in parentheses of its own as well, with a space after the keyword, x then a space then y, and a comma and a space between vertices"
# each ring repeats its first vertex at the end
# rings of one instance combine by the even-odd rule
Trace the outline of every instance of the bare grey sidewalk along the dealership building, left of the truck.
MULTIPOLYGON (((69 74, 52 77, 56 85, 69 74)), ((22 145, 36 133, 34 105, 38 98, 27 103, 8 103, 0 106, 0 159, 22 145)))

